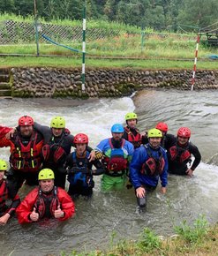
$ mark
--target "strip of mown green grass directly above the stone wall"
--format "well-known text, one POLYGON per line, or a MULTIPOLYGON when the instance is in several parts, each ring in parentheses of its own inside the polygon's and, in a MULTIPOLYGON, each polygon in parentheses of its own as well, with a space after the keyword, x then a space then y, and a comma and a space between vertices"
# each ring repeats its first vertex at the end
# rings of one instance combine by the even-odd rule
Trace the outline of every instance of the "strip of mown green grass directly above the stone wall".
MULTIPOLYGON (((75 57, 37 57, 37 56, 5 56, 0 57, 1 68, 11 67, 81 67, 81 58, 75 57)), ((132 68, 132 69, 176 69, 192 70, 193 61, 175 61, 164 59, 148 60, 109 60, 109 59, 86 59, 86 68, 132 68)), ((217 61, 199 61, 198 69, 217 70, 217 61)))

